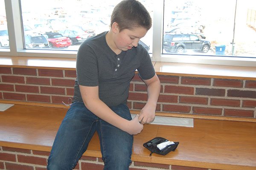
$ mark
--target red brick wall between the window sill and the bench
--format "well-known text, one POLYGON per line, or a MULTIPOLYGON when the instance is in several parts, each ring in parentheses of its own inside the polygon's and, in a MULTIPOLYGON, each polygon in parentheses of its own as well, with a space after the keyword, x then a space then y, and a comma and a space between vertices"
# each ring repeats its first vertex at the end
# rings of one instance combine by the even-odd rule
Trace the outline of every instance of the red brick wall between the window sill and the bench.
MULTIPOLYGON (((256 118, 256 81, 159 75, 157 111, 256 118)), ((76 71, 0 67, 0 99, 62 104, 73 97, 76 71)), ((136 74, 128 106, 140 110, 146 86, 136 74)))

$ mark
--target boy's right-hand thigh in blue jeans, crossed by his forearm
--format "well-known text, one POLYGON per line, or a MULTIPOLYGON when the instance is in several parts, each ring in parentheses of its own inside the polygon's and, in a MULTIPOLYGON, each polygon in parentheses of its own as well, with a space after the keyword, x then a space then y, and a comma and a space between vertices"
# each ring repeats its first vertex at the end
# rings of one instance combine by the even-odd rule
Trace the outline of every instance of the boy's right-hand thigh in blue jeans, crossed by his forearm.
MULTIPOLYGON (((119 116, 131 120, 131 113, 126 105, 119 105, 111 109, 119 116)), ((103 120, 98 122, 97 132, 101 142, 102 159, 105 162, 105 169, 127 169, 126 167, 131 163, 133 135, 103 120)))

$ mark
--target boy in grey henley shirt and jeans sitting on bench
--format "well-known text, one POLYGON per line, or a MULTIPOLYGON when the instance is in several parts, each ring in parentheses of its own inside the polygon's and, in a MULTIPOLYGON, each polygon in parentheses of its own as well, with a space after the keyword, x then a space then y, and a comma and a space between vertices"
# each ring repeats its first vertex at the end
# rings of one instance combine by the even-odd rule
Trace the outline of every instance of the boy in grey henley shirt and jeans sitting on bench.
POLYGON ((104 170, 129 169, 133 135, 154 120, 160 93, 148 52, 138 44, 150 28, 145 7, 137 0, 123 0, 113 9, 110 31, 81 44, 73 104, 55 137, 48 170, 74 168, 95 131, 104 170), (131 119, 126 102, 136 69, 148 87, 148 101, 131 119))

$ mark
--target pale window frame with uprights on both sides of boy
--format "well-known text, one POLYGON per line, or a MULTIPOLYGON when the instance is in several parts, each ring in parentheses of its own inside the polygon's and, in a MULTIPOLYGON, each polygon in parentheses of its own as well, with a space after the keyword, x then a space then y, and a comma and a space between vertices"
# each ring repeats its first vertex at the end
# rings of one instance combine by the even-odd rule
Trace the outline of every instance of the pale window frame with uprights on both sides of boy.
MULTIPOLYGON (((0 56, 76 58, 77 51, 24 49, 20 0, 5 0, 10 48, 0 56)), ((256 54, 250 57, 162 54, 164 0, 154 0, 152 61, 256 67, 256 54), (160 19, 157 19, 160 18, 160 19)))

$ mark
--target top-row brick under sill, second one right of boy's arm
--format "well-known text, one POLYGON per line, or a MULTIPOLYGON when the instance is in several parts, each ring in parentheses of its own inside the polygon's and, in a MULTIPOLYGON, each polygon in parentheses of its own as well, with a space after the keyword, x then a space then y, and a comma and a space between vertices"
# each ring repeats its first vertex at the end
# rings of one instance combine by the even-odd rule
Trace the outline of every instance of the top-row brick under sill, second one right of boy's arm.
POLYGON ((201 77, 182 77, 181 84, 184 85, 211 85, 210 78, 201 77))

